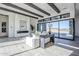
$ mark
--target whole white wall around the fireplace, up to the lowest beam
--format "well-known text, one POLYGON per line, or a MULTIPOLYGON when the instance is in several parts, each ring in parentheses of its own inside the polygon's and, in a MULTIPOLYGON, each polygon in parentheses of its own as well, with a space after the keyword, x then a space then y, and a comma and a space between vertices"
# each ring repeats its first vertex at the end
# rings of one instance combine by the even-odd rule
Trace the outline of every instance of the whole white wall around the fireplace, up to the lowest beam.
POLYGON ((19 28, 20 20, 25 20, 27 22, 27 30, 30 31, 30 17, 26 17, 23 15, 19 15, 19 14, 15 14, 15 13, 3 11, 3 10, 0 10, 0 14, 8 15, 8 17, 9 17, 9 19, 8 19, 8 23, 9 23, 8 37, 19 37, 19 36, 26 35, 26 34, 17 34, 17 31, 20 30, 20 28, 19 28))

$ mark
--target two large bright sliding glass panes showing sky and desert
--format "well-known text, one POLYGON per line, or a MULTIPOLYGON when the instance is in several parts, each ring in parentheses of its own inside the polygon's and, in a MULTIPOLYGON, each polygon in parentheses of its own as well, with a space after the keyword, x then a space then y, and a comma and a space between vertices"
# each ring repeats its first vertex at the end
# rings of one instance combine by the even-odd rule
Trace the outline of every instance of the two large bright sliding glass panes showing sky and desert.
POLYGON ((51 33, 55 35, 55 37, 70 39, 73 40, 73 20, 61 20, 50 23, 51 33))

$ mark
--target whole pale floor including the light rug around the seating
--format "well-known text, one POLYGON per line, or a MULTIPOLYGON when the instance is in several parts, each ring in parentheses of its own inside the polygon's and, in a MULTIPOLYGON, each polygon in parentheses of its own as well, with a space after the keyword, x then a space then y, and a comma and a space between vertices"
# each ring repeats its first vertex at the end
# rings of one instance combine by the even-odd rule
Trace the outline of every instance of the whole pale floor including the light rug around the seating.
POLYGON ((75 41, 55 39, 54 45, 31 48, 25 38, 0 38, 0 56, 79 56, 79 38, 75 41))

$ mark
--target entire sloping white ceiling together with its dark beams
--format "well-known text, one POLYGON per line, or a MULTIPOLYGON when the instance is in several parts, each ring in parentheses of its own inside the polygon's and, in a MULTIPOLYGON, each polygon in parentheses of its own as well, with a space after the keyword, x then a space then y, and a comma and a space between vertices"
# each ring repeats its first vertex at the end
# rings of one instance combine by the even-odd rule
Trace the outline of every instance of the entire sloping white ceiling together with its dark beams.
POLYGON ((0 10, 38 19, 59 14, 70 6, 71 3, 0 3, 0 10))

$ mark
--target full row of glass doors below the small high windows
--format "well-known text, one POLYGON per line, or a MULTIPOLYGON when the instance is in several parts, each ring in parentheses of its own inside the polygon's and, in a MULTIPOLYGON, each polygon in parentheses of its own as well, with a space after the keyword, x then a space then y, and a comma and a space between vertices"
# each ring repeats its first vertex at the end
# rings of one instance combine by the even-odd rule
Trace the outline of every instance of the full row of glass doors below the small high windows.
POLYGON ((58 20, 47 23, 39 23, 37 25, 37 30, 40 32, 47 31, 51 32, 58 38, 70 39, 74 38, 74 20, 58 20))

